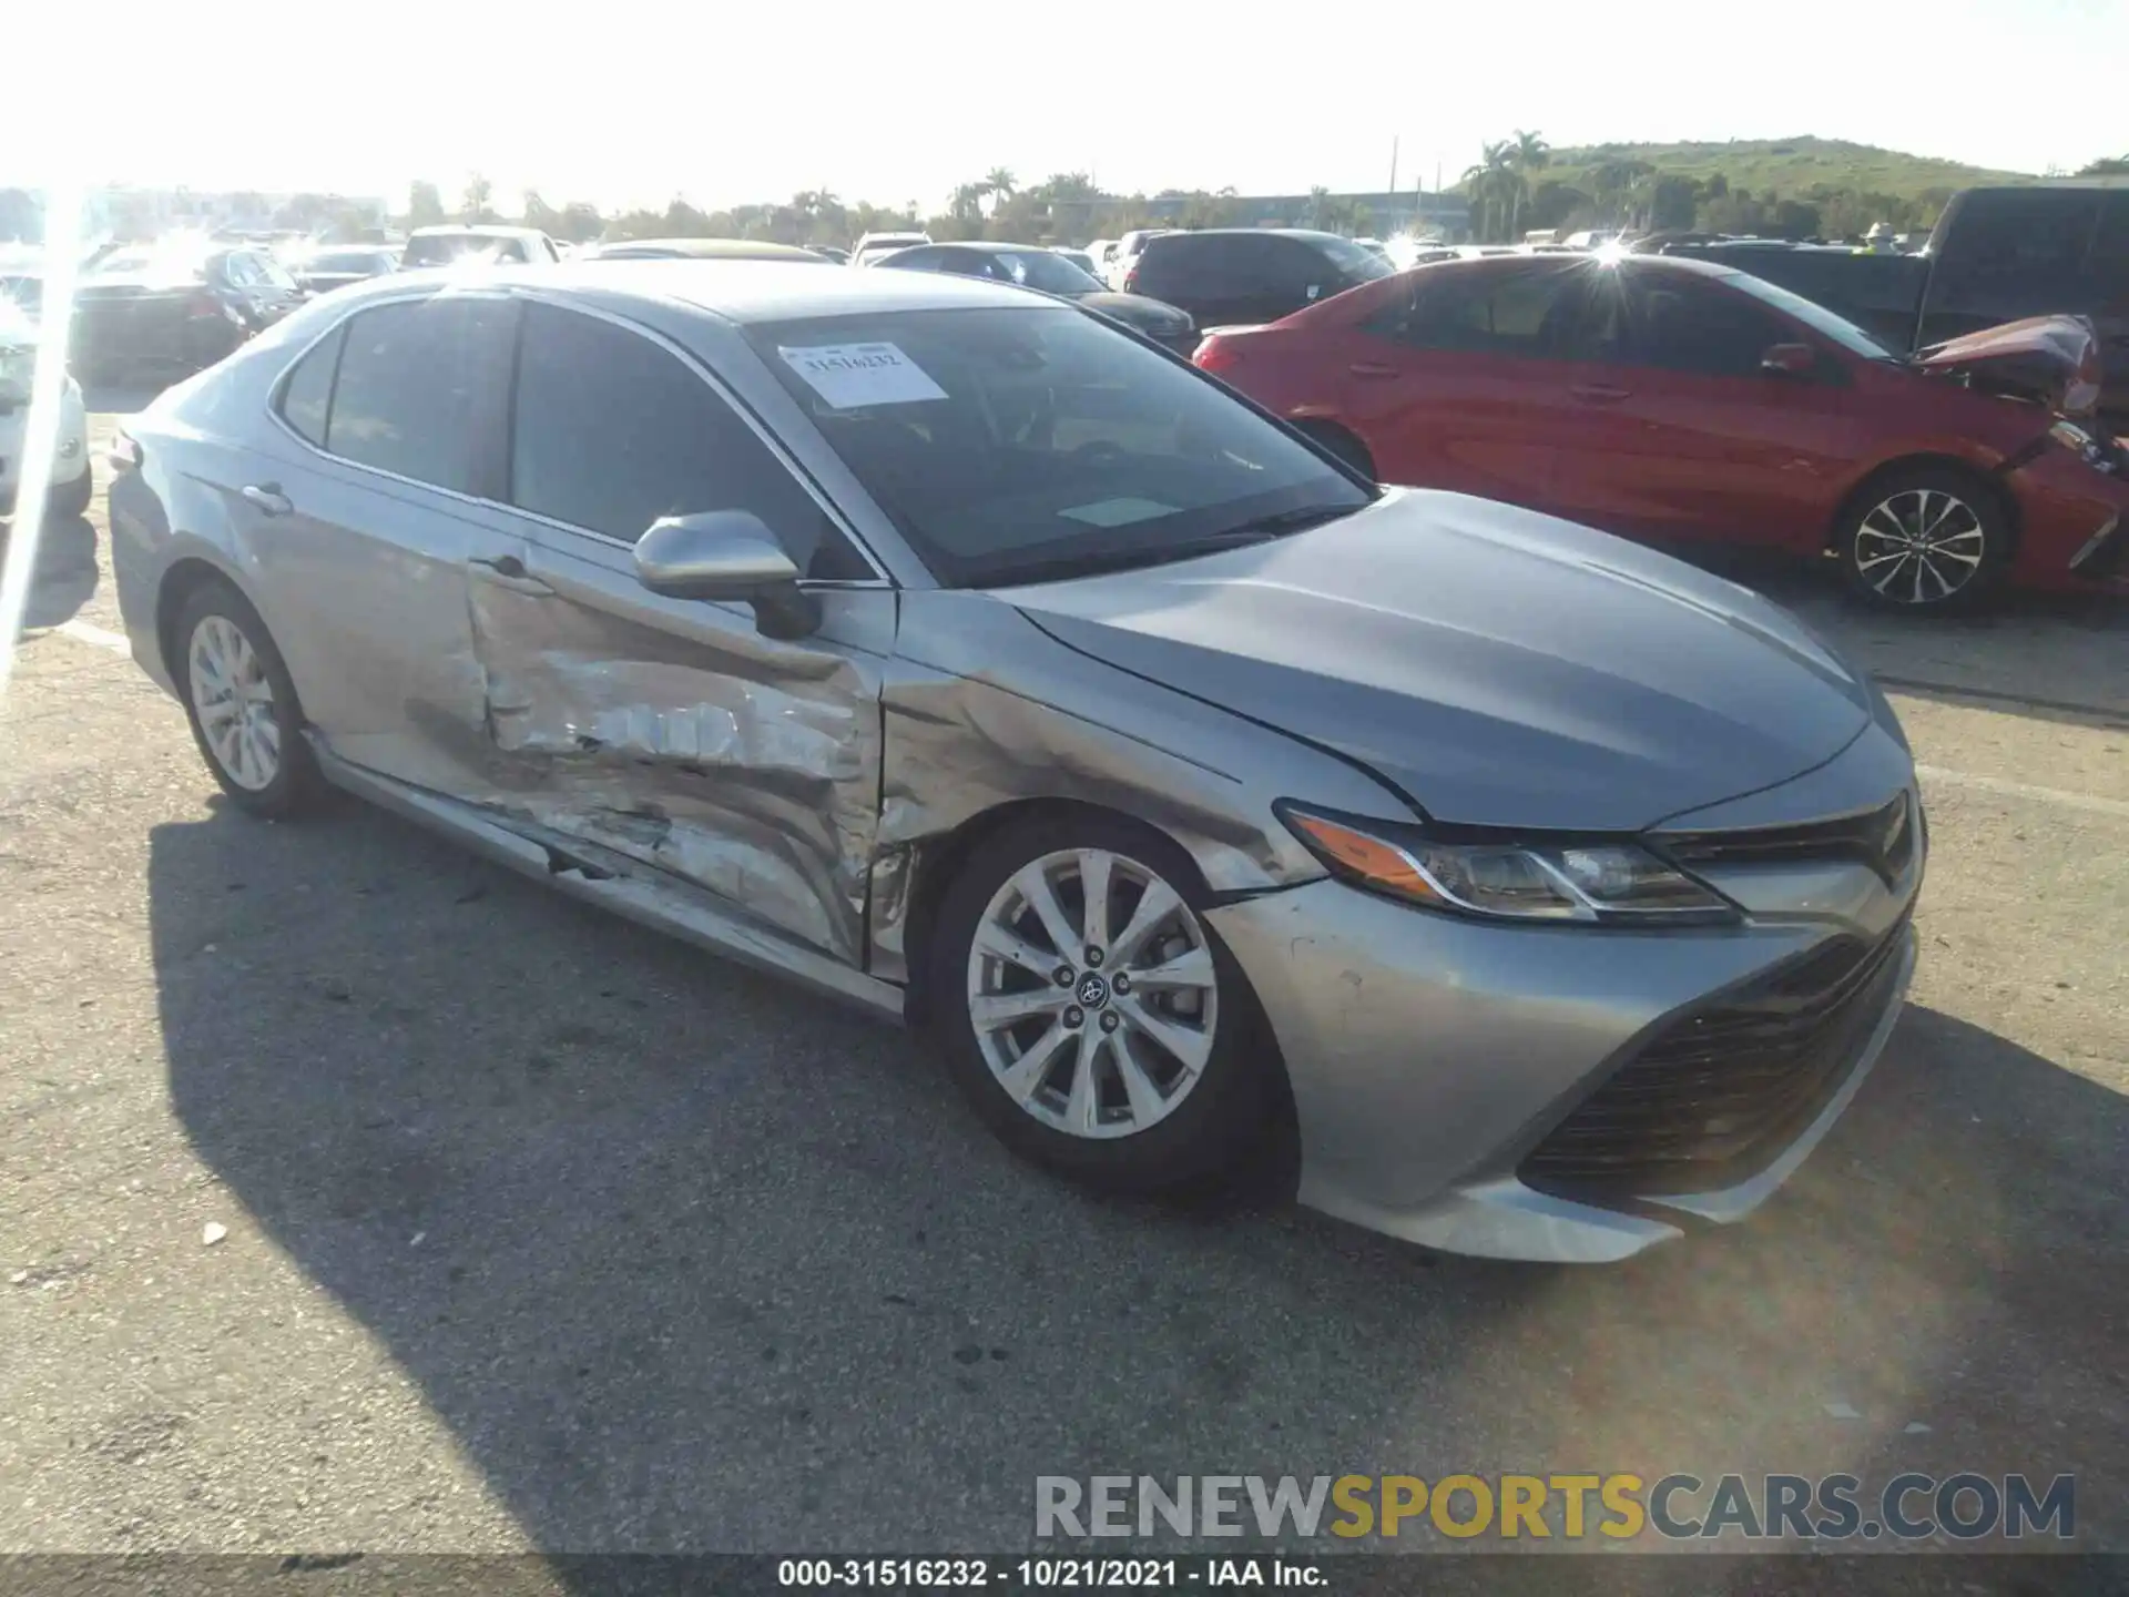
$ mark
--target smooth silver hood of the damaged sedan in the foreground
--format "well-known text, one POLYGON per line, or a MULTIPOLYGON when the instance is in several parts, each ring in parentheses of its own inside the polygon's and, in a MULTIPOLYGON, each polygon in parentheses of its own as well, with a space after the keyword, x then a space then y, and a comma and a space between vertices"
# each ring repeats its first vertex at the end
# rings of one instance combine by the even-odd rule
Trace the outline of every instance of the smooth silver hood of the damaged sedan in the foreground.
POLYGON ((1756 594, 1463 494, 1390 490, 1273 543, 999 596, 1456 824, 1641 830, 1871 722, 1869 686, 1756 594))

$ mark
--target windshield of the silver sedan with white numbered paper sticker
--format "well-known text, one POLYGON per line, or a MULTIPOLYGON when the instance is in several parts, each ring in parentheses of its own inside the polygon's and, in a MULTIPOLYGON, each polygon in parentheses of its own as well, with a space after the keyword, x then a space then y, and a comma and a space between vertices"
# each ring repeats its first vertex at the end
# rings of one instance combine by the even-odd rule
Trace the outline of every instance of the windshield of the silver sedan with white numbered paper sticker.
POLYGON ((939 581, 1203 551, 1367 490, 1199 377, 1062 307, 771 322, 749 341, 939 581))

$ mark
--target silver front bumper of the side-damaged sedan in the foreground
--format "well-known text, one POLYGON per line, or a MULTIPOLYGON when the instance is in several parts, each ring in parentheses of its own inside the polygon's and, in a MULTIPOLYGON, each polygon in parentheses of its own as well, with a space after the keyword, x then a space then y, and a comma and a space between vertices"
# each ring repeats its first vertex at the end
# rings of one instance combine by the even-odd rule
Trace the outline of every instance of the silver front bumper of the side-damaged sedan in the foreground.
MULTIPOLYGON (((1228 903, 1209 920, 1286 1058, 1305 1205, 1448 1252, 1601 1263, 1695 1220, 1744 1218, 1827 1135, 1899 1018, 1922 869, 1920 839, 1893 882, 1859 862, 1710 869, 1746 922, 1693 931, 1460 920, 1331 879, 1228 903), (1650 1165, 1635 1186, 1631 1160, 1624 1175, 1582 1184, 1544 1173, 1561 1169, 1563 1143, 1586 1152, 1588 1124, 1618 1116, 1620 1090, 1646 1094, 1650 1067, 1680 1058, 1680 1039, 1697 1041, 1703 1026, 1735 1035, 1722 1026, 1750 1020, 1769 990, 1850 952, 1856 988, 1827 988, 1810 1080, 1782 1086, 1780 1116, 1737 1158, 1705 1165, 1720 1184, 1680 1180, 1693 1165, 1661 1178, 1650 1165)), ((1812 1003, 1801 1022, 1818 1020, 1812 1003)), ((1735 1056, 1699 1048, 1680 1065, 1718 1094, 1733 1088, 1731 1067, 1735 1080, 1771 1069, 1746 1043, 1735 1056)), ((1678 1107, 1688 1124, 1667 1129, 1673 1143, 1720 1131, 1718 1109, 1678 1107)))

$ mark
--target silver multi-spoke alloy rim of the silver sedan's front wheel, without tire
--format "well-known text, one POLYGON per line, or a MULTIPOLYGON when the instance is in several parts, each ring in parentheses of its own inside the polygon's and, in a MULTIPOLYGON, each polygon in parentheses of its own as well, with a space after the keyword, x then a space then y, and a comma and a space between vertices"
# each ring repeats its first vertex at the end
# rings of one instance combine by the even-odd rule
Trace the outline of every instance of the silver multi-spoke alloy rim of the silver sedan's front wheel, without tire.
POLYGON ((1043 854, 992 894, 967 1001, 1007 1097, 1090 1139, 1171 1116, 1203 1077, 1220 1020, 1196 913, 1156 871, 1099 847, 1043 854))

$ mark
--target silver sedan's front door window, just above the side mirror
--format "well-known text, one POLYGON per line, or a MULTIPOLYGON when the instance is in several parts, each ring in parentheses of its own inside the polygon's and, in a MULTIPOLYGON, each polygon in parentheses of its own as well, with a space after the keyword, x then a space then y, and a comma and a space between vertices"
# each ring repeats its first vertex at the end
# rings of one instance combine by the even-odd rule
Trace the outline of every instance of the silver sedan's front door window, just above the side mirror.
POLYGON ((769 445, 677 356, 598 317, 528 304, 511 503, 634 543, 662 515, 754 511, 809 577, 871 577, 769 445))

